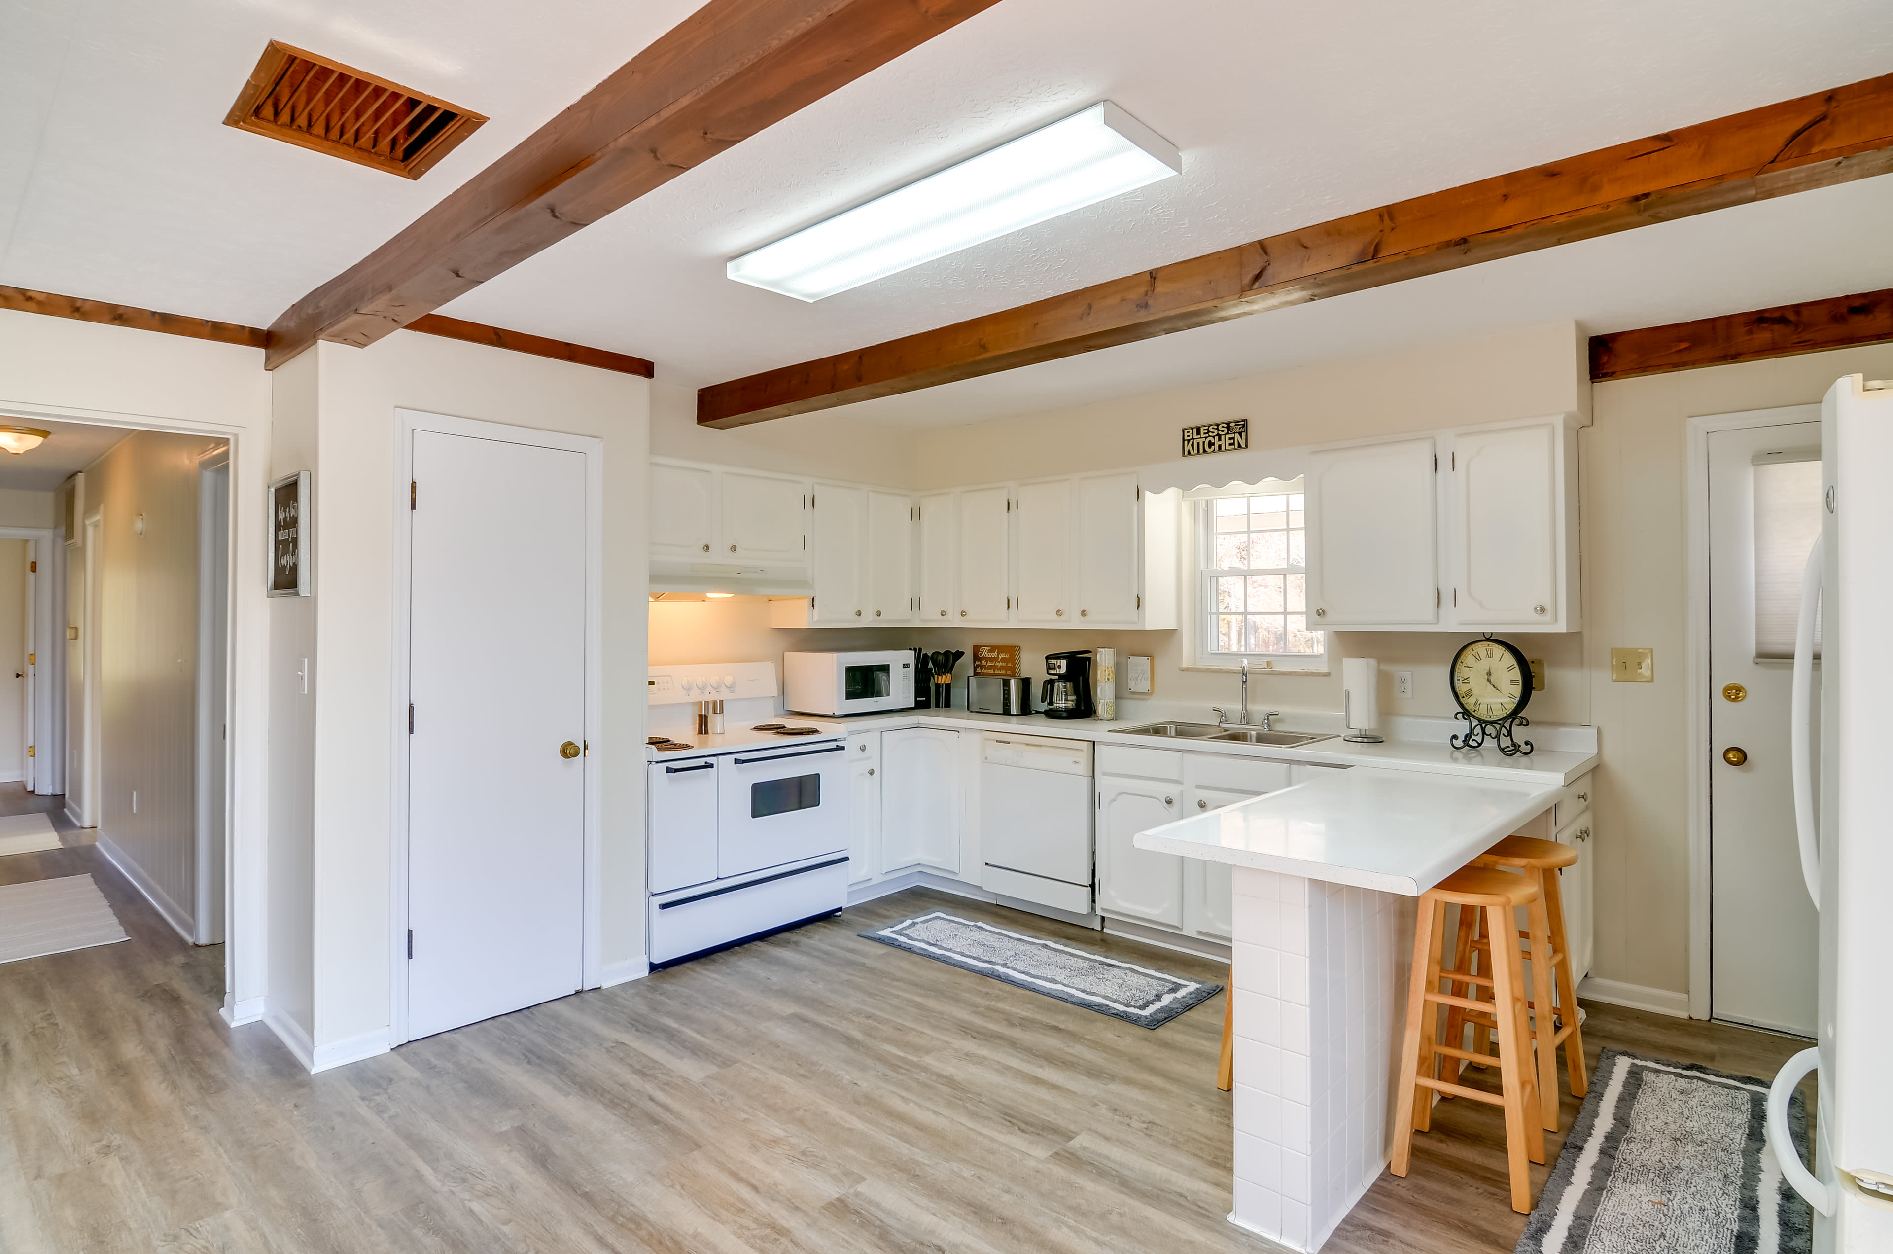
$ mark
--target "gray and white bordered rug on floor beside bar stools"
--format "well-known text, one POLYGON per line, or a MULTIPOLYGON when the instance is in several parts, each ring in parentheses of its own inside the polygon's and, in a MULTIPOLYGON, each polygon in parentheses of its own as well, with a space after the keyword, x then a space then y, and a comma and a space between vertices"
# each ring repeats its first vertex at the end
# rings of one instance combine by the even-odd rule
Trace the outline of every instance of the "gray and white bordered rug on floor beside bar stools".
MULTIPOLYGON (((1516 1254, 1804 1254, 1766 1110, 1766 1080, 1605 1049, 1516 1254)), ((1806 1140, 1800 1093, 1787 1118, 1806 1140)))

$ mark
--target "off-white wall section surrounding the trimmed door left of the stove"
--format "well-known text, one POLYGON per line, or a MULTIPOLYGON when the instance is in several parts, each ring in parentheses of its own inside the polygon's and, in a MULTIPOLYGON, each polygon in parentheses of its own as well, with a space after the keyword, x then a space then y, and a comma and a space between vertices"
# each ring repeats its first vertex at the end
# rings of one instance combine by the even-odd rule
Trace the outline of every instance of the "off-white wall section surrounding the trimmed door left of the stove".
MULTIPOLYGON (((394 517, 407 500, 405 485, 396 491, 398 407, 606 441, 604 744, 593 752, 604 771, 604 962, 640 960, 649 385, 435 335, 324 343, 276 375, 280 439, 295 447, 276 470, 314 472, 309 1034, 318 1057, 365 1051, 390 1025, 394 517)), ((301 636, 278 635, 288 638, 301 636)), ((286 661, 274 659, 276 691, 286 661)))

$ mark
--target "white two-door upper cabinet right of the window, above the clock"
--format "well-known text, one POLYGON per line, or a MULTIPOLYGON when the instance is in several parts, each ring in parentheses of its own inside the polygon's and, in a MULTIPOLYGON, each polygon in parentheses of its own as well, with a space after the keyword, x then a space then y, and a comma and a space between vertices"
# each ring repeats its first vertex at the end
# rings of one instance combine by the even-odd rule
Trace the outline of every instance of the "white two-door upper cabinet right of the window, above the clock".
POLYGON ((1310 627, 1579 631, 1575 422, 1310 451, 1310 627))

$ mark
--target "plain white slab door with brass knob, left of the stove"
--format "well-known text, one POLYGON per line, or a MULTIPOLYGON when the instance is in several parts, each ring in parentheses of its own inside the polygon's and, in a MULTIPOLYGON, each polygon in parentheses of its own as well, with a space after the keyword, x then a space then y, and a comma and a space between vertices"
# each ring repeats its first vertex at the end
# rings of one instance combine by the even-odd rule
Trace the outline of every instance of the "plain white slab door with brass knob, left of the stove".
POLYGON ((407 1036, 583 985, 585 457, 413 434, 407 1036))

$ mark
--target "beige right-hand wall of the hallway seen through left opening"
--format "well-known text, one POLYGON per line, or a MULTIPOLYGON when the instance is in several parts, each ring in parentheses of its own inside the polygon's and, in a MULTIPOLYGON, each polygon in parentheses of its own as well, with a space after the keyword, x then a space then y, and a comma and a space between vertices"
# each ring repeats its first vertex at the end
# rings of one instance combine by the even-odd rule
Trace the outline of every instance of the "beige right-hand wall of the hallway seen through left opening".
POLYGON ((100 599, 98 841, 186 940, 197 921, 197 479, 199 458, 221 447, 133 432, 85 468, 85 513, 100 513, 85 555, 100 599))

